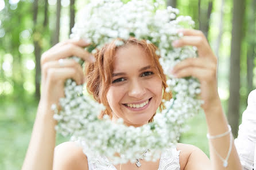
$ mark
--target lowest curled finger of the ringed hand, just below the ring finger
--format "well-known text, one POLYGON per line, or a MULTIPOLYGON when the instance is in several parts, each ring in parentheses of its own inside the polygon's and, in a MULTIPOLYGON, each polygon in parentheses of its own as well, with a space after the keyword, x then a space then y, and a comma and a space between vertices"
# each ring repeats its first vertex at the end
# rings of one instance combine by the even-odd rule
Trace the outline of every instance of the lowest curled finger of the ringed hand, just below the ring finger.
POLYGON ((56 84, 58 81, 64 83, 68 78, 72 78, 77 85, 82 84, 83 77, 77 74, 75 68, 50 68, 47 70, 46 84, 56 84))

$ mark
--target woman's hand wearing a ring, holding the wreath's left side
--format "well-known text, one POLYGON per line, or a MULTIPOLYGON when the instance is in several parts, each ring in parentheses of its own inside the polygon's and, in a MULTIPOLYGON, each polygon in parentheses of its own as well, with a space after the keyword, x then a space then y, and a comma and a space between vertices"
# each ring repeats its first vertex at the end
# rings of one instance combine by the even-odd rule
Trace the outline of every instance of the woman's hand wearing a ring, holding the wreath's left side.
POLYGON ((94 57, 82 48, 88 45, 90 44, 83 40, 69 39, 56 44, 42 54, 42 95, 40 104, 48 107, 51 107, 52 104, 58 105, 59 98, 64 97, 64 82, 68 78, 75 80, 77 85, 83 84, 82 66, 76 61, 68 59, 68 57, 76 56, 84 61, 94 62, 94 57))

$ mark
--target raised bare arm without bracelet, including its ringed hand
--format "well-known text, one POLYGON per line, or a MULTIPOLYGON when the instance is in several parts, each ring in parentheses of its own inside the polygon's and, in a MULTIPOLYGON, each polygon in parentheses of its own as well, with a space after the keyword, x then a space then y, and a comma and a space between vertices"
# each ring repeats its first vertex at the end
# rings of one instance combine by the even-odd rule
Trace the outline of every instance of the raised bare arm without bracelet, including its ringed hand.
POLYGON ((51 105, 58 104, 59 98, 64 97, 64 82, 67 78, 82 84, 82 67, 77 62, 65 58, 77 56, 91 61, 90 54, 82 48, 86 45, 88 44, 84 41, 68 40, 53 46, 42 55, 42 94, 22 170, 53 168, 56 121, 53 119, 51 105), (64 59, 61 60, 63 62, 60 63, 60 59, 64 59))

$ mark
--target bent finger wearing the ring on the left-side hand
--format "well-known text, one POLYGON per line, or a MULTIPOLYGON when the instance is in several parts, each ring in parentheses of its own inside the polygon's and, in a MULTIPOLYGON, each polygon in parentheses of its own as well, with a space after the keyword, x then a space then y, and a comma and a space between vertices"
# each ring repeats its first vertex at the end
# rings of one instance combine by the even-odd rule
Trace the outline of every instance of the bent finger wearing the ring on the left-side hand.
POLYGON ((42 74, 43 74, 44 80, 48 76, 49 69, 52 69, 52 68, 73 68, 76 70, 76 74, 79 74, 79 76, 82 77, 81 80, 79 81, 79 84, 82 84, 84 81, 82 66, 74 60, 71 60, 71 59, 63 60, 61 64, 59 61, 46 62, 44 65, 42 65, 42 74))

